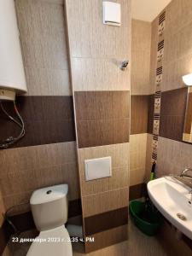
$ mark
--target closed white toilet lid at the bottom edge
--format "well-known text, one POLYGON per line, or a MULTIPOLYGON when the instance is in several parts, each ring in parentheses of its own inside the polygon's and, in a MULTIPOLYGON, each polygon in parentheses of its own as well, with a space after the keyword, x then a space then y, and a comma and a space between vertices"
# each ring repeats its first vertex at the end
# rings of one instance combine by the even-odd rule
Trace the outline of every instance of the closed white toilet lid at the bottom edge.
POLYGON ((72 256, 72 244, 65 226, 40 232, 26 256, 72 256))

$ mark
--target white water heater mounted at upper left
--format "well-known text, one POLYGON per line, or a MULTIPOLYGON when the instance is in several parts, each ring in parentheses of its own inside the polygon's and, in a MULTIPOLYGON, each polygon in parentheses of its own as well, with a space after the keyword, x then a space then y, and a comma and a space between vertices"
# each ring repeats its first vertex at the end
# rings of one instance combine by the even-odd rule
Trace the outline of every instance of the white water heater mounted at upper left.
POLYGON ((0 101, 26 92, 15 1, 0 0, 0 101))

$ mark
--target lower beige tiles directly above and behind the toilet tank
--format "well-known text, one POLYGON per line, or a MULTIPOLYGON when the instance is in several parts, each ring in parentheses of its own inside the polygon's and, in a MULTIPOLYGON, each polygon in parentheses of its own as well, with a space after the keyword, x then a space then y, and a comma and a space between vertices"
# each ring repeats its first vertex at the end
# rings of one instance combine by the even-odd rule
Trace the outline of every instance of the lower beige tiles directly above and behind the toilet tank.
POLYGON ((69 200, 80 196, 75 142, 2 150, 0 161, 6 209, 29 201, 34 189, 59 183, 68 183, 69 200))

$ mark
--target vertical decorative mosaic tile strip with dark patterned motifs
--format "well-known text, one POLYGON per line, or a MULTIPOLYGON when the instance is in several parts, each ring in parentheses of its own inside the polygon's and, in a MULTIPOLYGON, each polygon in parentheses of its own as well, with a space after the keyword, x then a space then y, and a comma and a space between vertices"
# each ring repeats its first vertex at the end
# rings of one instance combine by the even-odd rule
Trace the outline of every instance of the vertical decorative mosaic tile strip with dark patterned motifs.
POLYGON ((158 45, 157 45, 157 68, 155 79, 155 94, 154 94, 154 128, 153 128, 153 140, 152 140, 152 162, 157 161, 157 148, 158 137, 160 132, 160 101, 161 101, 161 83, 163 76, 162 60, 164 56, 164 39, 163 34, 166 27, 166 11, 159 16, 158 26, 158 45))

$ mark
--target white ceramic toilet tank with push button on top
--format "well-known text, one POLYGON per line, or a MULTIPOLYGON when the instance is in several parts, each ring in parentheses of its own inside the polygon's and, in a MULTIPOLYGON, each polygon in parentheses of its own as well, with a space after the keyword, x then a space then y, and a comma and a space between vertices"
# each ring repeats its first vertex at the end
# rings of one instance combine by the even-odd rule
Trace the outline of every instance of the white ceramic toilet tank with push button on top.
POLYGON ((67 222, 67 193, 67 184, 38 189, 32 193, 32 216, 39 231, 51 230, 67 222))

